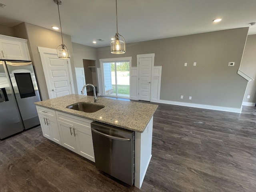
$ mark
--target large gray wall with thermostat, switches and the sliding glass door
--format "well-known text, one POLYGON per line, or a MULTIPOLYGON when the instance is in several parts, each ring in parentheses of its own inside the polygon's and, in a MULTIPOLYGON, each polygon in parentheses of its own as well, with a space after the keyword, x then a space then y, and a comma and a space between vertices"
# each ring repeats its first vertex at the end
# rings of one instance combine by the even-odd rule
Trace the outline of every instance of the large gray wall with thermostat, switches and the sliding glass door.
POLYGON ((238 28, 131 43, 122 55, 111 54, 110 47, 98 48, 97 62, 132 56, 132 66, 136 66, 137 54, 155 53, 154 65, 162 66, 160 100, 241 108, 247 81, 237 70, 247 33, 248 28, 238 28), (228 62, 235 66, 228 67, 228 62))

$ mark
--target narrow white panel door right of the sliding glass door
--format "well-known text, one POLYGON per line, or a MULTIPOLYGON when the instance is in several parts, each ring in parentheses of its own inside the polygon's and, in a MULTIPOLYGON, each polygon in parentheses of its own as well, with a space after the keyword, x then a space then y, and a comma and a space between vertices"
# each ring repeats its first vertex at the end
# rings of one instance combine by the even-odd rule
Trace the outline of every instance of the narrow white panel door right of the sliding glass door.
POLYGON ((139 58, 139 100, 150 101, 152 57, 139 58))

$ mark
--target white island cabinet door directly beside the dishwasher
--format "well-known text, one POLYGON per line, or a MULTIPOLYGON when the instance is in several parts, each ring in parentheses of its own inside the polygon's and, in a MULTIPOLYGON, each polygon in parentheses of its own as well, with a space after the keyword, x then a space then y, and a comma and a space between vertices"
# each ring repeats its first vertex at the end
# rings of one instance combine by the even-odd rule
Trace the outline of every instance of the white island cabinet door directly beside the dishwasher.
POLYGON ((79 126, 74 126, 74 130, 76 136, 77 153, 95 162, 92 143, 92 131, 81 128, 79 126))

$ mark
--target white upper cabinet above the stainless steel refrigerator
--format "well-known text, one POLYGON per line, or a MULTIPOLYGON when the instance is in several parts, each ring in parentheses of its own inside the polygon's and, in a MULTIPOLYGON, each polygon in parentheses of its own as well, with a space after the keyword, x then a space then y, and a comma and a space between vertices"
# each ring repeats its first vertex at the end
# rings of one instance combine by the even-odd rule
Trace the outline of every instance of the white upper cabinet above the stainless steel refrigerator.
POLYGON ((30 61, 26 39, 0 35, 0 59, 30 61))

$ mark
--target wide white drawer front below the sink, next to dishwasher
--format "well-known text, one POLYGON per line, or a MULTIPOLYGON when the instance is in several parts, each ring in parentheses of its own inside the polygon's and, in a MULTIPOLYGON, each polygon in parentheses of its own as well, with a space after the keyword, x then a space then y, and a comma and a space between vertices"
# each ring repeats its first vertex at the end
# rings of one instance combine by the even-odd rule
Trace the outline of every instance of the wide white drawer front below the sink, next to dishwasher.
POLYGON ((80 126, 87 130, 91 130, 91 122, 93 122, 92 120, 88 120, 85 118, 77 117, 77 116, 66 114, 59 111, 56 111, 56 118, 57 120, 70 123, 76 126, 80 126))

